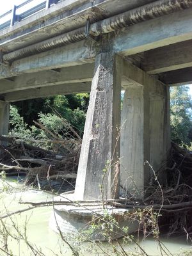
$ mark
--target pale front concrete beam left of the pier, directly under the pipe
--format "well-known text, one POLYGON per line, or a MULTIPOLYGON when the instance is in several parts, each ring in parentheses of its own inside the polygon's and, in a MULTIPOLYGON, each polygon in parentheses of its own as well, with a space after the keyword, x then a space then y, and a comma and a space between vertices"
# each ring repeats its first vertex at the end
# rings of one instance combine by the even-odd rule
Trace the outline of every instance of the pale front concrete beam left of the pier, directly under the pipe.
POLYGON ((51 51, 13 61, 10 67, 1 65, 0 79, 19 76, 24 73, 92 63, 95 54, 96 47, 93 42, 89 40, 76 42, 75 44, 65 45, 51 51))

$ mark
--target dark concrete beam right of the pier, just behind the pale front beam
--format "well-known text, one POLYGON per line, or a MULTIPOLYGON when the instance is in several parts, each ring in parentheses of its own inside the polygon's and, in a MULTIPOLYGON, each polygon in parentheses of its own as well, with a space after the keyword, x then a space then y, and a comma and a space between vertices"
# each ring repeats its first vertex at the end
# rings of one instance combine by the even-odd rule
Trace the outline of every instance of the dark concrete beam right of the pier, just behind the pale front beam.
POLYGON ((141 68, 148 74, 186 67, 192 67, 192 40, 147 51, 141 63, 141 68))

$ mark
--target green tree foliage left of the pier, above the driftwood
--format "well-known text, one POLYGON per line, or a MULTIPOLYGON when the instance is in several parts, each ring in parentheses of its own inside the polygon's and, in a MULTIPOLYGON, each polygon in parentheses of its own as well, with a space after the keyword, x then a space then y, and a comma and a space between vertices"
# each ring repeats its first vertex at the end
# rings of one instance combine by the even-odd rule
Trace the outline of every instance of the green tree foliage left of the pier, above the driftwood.
POLYGON ((33 131, 33 134, 42 136, 43 132, 35 129, 33 120, 39 121, 56 134, 61 131, 60 118, 54 115, 54 111, 60 113, 74 129, 83 136, 86 110, 88 108, 89 94, 58 95, 44 99, 23 100, 15 102, 11 109, 10 124, 17 134, 21 130, 33 131), (22 116, 22 117, 21 117, 22 116), (20 127, 19 127, 20 126, 20 127))

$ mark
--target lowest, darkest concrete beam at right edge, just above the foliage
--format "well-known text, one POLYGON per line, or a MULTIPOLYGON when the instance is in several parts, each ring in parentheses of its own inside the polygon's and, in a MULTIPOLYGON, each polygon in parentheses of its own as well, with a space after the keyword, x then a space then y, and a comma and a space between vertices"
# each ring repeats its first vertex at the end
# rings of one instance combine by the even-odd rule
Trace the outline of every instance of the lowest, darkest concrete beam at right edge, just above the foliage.
POLYGON ((192 67, 182 68, 160 74, 159 79, 170 86, 180 86, 192 83, 192 67))

